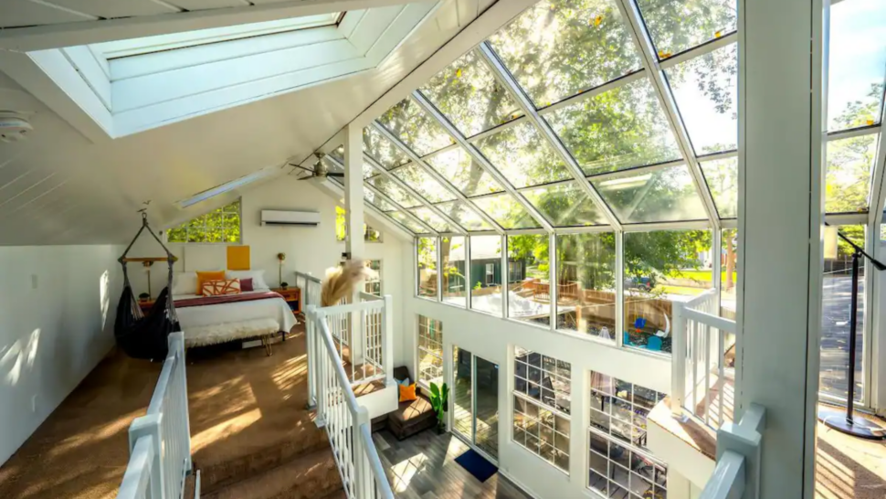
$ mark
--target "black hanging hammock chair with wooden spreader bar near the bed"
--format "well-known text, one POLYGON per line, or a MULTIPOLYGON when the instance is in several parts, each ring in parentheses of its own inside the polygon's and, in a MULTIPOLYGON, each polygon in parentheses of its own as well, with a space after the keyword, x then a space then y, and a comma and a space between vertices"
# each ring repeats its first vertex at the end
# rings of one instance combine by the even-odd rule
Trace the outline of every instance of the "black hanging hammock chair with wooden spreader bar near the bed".
POLYGON ((169 295, 169 289, 173 285, 173 265, 175 260, 177 259, 169 252, 163 241, 153 233, 151 226, 148 225, 147 214, 142 210, 142 228, 139 228, 135 238, 132 239, 132 242, 123 251, 123 255, 117 260, 123 267, 123 292, 120 297, 120 303, 117 303, 114 337, 117 340, 117 345, 121 347, 127 356, 162 360, 167 353, 166 336, 181 330, 178 324, 178 315, 175 313, 173 299, 169 295), (148 229, 148 233, 166 251, 164 258, 126 258, 127 253, 132 249, 132 245, 139 239, 145 228, 148 229), (142 307, 139 306, 139 303, 135 300, 135 293, 132 292, 129 275, 126 272, 126 264, 131 261, 165 261, 169 265, 166 287, 163 288, 160 296, 153 303, 151 313, 148 316, 142 313, 142 307))

